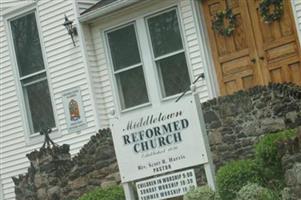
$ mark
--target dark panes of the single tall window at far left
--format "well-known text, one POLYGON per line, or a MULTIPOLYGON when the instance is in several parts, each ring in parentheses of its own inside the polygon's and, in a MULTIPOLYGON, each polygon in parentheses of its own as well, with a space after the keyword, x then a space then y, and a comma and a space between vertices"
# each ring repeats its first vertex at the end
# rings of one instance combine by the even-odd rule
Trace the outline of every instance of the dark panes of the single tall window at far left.
POLYGON ((31 134, 55 127, 35 13, 10 22, 31 134))

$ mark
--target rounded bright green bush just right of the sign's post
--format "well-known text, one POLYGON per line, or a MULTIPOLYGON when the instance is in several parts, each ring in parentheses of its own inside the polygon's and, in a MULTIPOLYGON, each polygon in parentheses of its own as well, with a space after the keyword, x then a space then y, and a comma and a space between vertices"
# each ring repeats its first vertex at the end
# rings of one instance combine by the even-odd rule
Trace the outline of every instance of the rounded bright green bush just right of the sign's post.
POLYGON ((223 200, 235 199, 236 193, 247 183, 261 183, 252 160, 232 161, 221 167, 216 176, 219 194, 223 200))

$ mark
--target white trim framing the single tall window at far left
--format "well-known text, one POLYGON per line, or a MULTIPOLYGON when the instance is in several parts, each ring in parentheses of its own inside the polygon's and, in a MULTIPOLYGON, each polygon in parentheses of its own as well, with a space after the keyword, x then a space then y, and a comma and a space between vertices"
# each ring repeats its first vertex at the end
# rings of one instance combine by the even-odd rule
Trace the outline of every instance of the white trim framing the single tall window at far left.
POLYGON ((18 103, 19 103, 19 108, 20 108, 20 112, 21 112, 21 117, 22 117, 22 125, 24 128, 25 142, 27 145, 33 145, 33 144, 41 143, 44 140, 44 136, 41 136, 39 133, 31 134, 31 128, 30 128, 30 124, 29 124, 30 119, 28 117, 28 112, 27 112, 27 108, 26 108, 26 99, 25 99, 24 91, 23 91, 22 84, 21 84, 21 80, 23 80, 24 78, 28 78, 30 76, 33 76, 33 75, 36 75, 39 73, 46 73, 46 78, 47 78, 47 83, 48 83, 48 88, 49 88, 49 93, 50 93, 51 105, 52 105, 54 121, 55 121, 55 125, 56 125, 55 128, 52 128, 51 136, 52 136, 52 138, 61 137, 62 135, 58 129, 59 126, 58 126, 57 112, 56 112, 56 107, 54 104, 55 101, 54 101, 54 96, 53 96, 53 88, 51 85, 50 76, 49 76, 49 72, 48 72, 48 62, 47 62, 47 57, 46 57, 46 53, 45 53, 44 40, 42 37, 39 13, 37 10, 37 3, 34 2, 34 3, 24 4, 23 6, 17 7, 16 9, 9 10, 3 16, 4 16, 4 25, 5 25, 5 29, 6 29, 6 33, 7 33, 10 61, 12 64, 13 75, 15 77, 14 80, 15 80, 15 84, 16 84, 16 88, 17 88, 17 96, 18 96, 18 103), (44 69, 40 70, 34 74, 20 77, 10 22, 17 18, 21 18, 29 13, 35 13, 36 24, 37 24, 41 51, 42 51, 42 57, 43 57, 43 61, 44 61, 44 69))

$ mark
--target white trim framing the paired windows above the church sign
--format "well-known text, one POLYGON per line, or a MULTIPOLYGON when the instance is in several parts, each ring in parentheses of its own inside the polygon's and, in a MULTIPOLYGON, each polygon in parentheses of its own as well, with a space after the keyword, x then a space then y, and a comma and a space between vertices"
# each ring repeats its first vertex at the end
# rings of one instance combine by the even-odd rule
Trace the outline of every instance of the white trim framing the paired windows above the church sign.
MULTIPOLYGON (((143 11, 142 10, 138 13, 126 14, 125 18, 127 20, 120 20, 120 16, 119 16, 119 17, 117 17, 117 19, 111 20, 110 23, 106 22, 105 24, 102 24, 102 26, 101 26, 102 30, 100 31, 100 33, 101 33, 100 35, 103 38, 103 46, 104 46, 106 60, 107 60, 108 72, 109 72, 112 89, 113 89, 114 103, 115 103, 115 107, 118 111, 117 114, 127 113, 129 111, 133 111, 136 109, 140 109, 141 111, 143 111, 143 108, 145 108, 145 107, 158 106, 160 104, 175 100, 179 95, 181 95, 181 94, 176 94, 176 95, 168 96, 168 97, 162 96, 161 86, 160 86, 161 81, 159 81, 158 73, 155 71, 155 70, 157 70, 157 67, 156 67, 156 64, 154 63, 155 61, 154 61, 153 57, 149 56, 149 55, 153 55, 153 51, 152 51, 152 46, 150 46, 151 41, 150 41, 150 37, 148 36, 148 32, 147 32, 148 28, 147 28, 146 19, 148 17, 159 15, 159 14, 168 12, 173 9, 176 10, 180 34, 181 34, 182 43, 183 43, 183 51, 185 52, 188 74, 189 74, 190 81, 191 82, 193 81, 192 67, 191 67, 191 63, 190 63, 190 59, 189 59, 189 55, 188 55, 187 41, 184 37, 182 16, 179 11, 180 6, 178 5, 179 3, 178 2, 171 3, 169 1, 162 2, 162 3, 161 4, 159 3, 159 4, 154 5, 151 8, 149 8, 151 11, 149 11, 149 10, 143 11), (163 5, 162 5, 162 3, 163 3, 163 5), (166 5, 164 3, 166 3, 166 5), (144 48, 143 51, 140 51, 140 53, 141 53, 140 56, 141 56, 141 62, 143 63, 143 67, 144 67, 143 72, 144 72, 144 74, 147 74, 147 76, 145 76, 144 78, 146 81, 147 92, 149 94, 149 103, 141 104, 141 105, 131 107, 128 109, 122 109, 121 104, 120 104, 119 94, 118 94, 118 86, 117 86, 117 83, 115 80, 114 69, 112 66, 112 59, 111 59, 110 51, 108 48, 107 32, 111 32, 114 29, 118 29, 119 27, 125 26, 126 24, 130 24, 130 23, 135 23, 136 27, 144 26, 143 28, 139 28, 136 31, 137 31, 137 40, 138 40, 138 44, 139 44, 139 49, 142 46, 145 47, 145 45, 148 47, 148 48, 144 48), (139 37, 141 37, 141 38, 139 38, 139 37), (147 65, 147 63, 151 63, 151 66, 155 67, 156 69, 151 69, 151 70, 147 69, 147 67, 145 67, 145 65, 147 65), (156 87, 149 87, 148 86, 149 83, 152 82, 152 80, 150 80, 150 79, 154 79, 154 78, 155 78, 156 87)), ((189 94, 189 93, 187 93, 187 94, 189 94)))

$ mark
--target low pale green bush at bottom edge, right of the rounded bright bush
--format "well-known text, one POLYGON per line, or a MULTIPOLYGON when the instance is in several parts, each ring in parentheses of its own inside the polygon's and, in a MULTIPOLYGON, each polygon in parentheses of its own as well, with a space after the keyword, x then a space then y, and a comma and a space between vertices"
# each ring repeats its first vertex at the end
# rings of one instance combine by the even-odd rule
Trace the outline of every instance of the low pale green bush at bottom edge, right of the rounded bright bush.
POLYGON ((249 183, 242 187, 237 193, 236 200, 279 200, 279 196, 273 191, 259 186, 256 183, 249 183))

